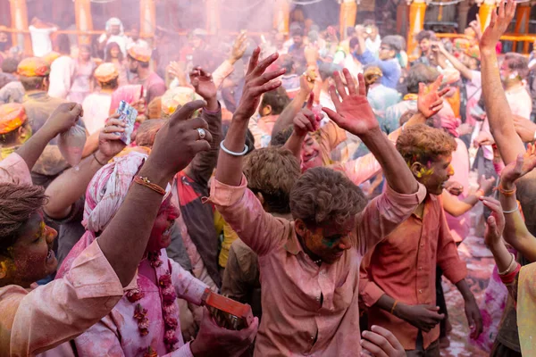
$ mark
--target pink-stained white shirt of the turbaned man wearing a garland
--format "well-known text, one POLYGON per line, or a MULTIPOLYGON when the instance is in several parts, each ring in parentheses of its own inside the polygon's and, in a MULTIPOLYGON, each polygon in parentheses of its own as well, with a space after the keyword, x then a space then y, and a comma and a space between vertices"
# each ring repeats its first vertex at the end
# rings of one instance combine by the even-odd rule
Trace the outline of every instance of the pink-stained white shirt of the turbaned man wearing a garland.
MULTIPOLYGON (((157 278, 171 270, 172 286, 178 297, 196 305, 201 304, 201 298, 206 285, 197 278, 183 270, 177 262, 167 257, 165 249, 162 249, 160 260, 163 264, 153 268, 144 260, 138 266, 136 286, 143 293, 143 297, 130 303, 125 296, 113 307, 113 310, 102 320, 78 336, 74 340, 77 353, 80 357, 91 356, 125 356, 143 357, 151 346, 159 356, 165 357, 193 357, 189 343, 184 345, 180 332, 179 305, 175 300, 174 309, 179 321, 175 329, 175 336, 179 339, 179 349, 167 353, 164 345, 164 321, 162 311, 162 297, 157 286, 157 278), (152 278, 149 278, 152 277, 152 278), (147 309, 148 334, 141 336, 138 330, 138 321, 134 319, 134 311, 137 304, 147 309)), ((52 354, 51 354, 52 355, 52 354)))

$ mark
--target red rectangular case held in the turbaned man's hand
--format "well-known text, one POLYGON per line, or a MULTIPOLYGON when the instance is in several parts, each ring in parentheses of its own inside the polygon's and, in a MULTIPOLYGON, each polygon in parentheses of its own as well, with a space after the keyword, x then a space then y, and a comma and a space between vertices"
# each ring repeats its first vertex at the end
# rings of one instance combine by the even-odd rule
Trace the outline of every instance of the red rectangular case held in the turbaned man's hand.
POLYGON ((209 288, 205 289, 202 301, 221 328, 240 330, 253 323, 253 312, 247 303, 216 294, 209 288))

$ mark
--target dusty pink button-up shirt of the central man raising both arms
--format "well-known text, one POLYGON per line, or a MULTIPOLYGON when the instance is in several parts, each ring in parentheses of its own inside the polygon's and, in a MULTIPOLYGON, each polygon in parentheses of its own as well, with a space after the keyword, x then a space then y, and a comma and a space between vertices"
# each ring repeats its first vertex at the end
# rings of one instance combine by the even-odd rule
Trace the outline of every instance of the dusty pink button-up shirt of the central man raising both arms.
POLYGON ((425 195, 421 185, 413 195, 388 188, 356 215, 356 247, 338 262, 319 267, 299 244, 294 223, 264 212, 245 177, 239 187, 214 179, 210 200, 259 255, 263 320, 255 356, 358 355, 361 259, 406 220, 425 195))

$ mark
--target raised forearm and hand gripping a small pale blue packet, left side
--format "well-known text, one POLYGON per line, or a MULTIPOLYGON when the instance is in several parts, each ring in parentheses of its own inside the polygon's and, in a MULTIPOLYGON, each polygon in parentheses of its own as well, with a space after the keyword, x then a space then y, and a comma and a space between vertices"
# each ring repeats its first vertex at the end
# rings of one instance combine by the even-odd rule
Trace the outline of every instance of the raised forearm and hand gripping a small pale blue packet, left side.
POLYGON ((46 187, 48 202, 44 207, 46 215, 54 220, 63 220, 71 213, 72 204, 84 195, 89 181, 110 159, 119 154, 124 144, 115 133, 124 131, 125 124, 117 120, 118 114, 107 120, 105 129, 100 131, 98 150, 82 160, 78 170, 71 168, 54 179, 46 187))

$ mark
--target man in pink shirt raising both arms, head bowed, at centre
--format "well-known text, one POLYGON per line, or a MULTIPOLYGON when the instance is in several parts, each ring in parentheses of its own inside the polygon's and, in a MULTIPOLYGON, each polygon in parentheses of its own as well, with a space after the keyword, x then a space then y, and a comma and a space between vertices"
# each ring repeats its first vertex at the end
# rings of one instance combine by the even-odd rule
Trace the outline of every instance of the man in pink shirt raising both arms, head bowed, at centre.
MULTIPOLYGON (((377 156, 389 182, 386 193, 367 204, 363 192, 342 174, 314 168, 290 191, 294 222, 264 212, 241 173, 242 153, 260 95, 281 86, 280 80, 272 79, 284 70, 264 73, 277 54, 258 62, 259 52, 257 48, 249 63, 244 94, 222 142, 211 189, 211 201, 223 218, 259 256, 264 311, 255 355, 358 355, 359 264, 368 249, 415 210, 424 187, 381 133, 364 94, 363 77, 357 89, 345 70, 348 93, 336 74, 342 102, 331 87, 337 112, 323 110, 377 156)), ((370 334, 364 332, 364 338, 370 334)), ((372 349, 368 342, 363 347, 372 349)), ((395 349, 390 345, 387 354, 395 349)))

